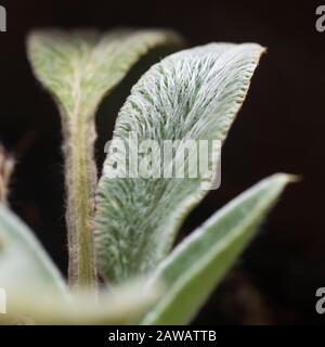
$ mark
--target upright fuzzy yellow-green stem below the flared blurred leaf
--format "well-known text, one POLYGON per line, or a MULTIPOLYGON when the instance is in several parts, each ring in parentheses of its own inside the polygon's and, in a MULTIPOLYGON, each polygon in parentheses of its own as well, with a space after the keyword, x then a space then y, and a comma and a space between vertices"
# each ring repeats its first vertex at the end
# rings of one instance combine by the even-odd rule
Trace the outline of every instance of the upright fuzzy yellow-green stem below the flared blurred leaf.
POLYGON ((93 245, 94 194, 96 167, 93 157, 94 121, 76 117, 64 131, 65 180, 67 191, 67 228, 69 285, 96 288, 93 245), (70 131, 69 131, 70 130, 70 131), (91 149, 91 150, 90 150, 91 149))

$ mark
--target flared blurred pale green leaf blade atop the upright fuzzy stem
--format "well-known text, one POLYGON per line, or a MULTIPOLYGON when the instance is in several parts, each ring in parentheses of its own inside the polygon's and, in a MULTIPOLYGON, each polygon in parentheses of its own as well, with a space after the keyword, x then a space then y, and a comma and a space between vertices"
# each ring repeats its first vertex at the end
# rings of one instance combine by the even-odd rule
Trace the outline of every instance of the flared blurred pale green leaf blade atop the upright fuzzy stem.
POLYGON ((52 29, 31 33, 27 48, 34 72, 55 97, 62 117, 77 121, 93 118, 102 98, 142 55, 155 47, 181 42, 180 36, 162 29, 104 34, 52 29))

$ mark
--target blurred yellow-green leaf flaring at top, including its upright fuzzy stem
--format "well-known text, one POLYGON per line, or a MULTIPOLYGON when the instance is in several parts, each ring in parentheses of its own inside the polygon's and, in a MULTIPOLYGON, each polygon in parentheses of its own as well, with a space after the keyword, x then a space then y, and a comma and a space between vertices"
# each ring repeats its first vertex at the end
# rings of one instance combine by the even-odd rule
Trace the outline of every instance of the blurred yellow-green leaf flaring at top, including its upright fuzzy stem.
POLYGON ((38 79, 52 93, 61 112, 69 279, 74 286, 94 286, 93 214, 96 167, 93 158, 95 111, 104 98, 150 49, 180 46, 168 30, 35 31, 28 56, 38 79))

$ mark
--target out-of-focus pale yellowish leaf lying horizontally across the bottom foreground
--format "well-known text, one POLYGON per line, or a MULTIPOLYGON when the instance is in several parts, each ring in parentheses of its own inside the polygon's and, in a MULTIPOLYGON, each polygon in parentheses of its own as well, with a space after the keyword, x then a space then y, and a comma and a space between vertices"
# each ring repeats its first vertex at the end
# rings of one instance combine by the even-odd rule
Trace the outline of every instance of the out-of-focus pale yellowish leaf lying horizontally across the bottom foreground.
POLYGON ((31 324, 130 324, 157 301, 158 287, 144 290, 143 283, 128 284, 116 292, 74 293, 64 298, 53 291, 39 287, 11 288, 8 294, 8 313, 0 323, 31 324), (18 319, 17 319, 18 317, 18 319))

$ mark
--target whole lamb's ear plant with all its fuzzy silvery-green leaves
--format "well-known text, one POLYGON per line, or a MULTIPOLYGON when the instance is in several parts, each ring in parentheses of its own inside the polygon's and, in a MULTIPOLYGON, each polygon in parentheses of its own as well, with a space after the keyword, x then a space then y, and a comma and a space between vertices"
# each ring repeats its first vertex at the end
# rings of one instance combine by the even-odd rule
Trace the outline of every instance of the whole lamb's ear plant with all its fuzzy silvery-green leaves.
MULTIPOLYGON (((32 69, 62 118, 69 285, 30 230, 2 206, 0 286, 11 293, 13 317, 34 323, 188 323, 291 180, 285 174, 264 179, 174 249, 183 220, 213 184, 218 156, 195 179, 122 178, 123 157, 109 147, 96 182, 94 117, 101 101, 151 48, 182 42, 168 30, 29 36, 32 69), (102 291, 98 270, 106 283, 102 291)), ((162 59, 132 88, 113 140, 178 140, 176 153, 190 139, 223 143, 262 52, 256 43, 210 43, 162 59)), ((152 152, 153 160, 157 155, 152 152)), ((188 171, 191 163, 186 156, 188 171)))

